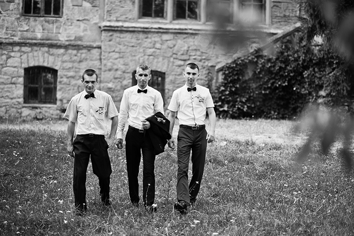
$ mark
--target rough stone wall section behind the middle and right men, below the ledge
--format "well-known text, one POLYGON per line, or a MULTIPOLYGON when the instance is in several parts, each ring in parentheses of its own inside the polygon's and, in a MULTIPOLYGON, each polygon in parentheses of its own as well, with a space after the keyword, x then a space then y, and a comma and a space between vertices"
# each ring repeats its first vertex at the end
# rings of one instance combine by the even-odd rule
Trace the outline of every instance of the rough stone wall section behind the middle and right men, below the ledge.
POLYGON ((209 44, 210 34, 161 31, 103 30, 102 89, 112 95, 117 107, 124 89, 130 87, 132 72, 139 64, 146 63, 152 70, 166 73, 165 108, 172 92, 185 84, 182 75, 188 62, 200 67, 198 84, 212 85, 210 75, 215 67, 233 58, 226 52, 209 44))

